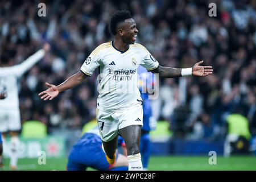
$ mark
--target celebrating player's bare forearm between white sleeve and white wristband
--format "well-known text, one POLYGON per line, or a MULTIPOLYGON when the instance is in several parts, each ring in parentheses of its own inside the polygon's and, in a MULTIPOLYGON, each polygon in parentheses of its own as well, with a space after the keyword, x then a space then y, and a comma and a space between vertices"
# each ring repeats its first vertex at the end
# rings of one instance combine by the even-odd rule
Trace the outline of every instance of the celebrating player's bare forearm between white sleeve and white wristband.
POLYGON ((159 73, 159 76, 164 78, 181 77, 181 69, 162 67, 161 65, 152 72, 159 73))

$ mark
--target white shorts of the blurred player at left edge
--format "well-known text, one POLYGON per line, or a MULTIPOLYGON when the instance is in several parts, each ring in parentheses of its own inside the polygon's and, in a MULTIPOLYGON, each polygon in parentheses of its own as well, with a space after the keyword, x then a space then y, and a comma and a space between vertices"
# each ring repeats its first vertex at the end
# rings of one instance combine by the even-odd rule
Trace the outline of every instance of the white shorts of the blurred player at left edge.
POLYGON ((0 132, 18 131, 21 129, 19 109, 0 109, 0 132))

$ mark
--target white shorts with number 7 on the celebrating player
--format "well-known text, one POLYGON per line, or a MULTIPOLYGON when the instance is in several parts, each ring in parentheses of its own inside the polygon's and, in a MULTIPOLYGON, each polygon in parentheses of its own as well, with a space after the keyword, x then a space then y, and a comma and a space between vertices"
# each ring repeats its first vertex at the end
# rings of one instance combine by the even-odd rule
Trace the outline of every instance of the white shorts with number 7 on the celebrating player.
POLYGON ((109 142, 114 139, 118 130, 130 125, 143 126, 143 109, 142 105, 132 106, 123 111, 106 112, 97 109, 96 119, 101 139, 104 142, 109 142))

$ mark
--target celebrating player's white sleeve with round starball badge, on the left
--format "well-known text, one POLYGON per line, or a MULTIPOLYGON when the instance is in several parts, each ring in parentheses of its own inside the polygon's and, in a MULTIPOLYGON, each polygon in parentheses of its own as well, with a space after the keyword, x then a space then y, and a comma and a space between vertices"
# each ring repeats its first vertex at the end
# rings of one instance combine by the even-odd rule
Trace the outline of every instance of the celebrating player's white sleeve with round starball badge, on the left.
POLYGON ((93 71, 100 66, 100 58, 98 55, 90 54, 87 59, 82 64, 81 71, 85 73, 85 75, 91 76, 93 71))

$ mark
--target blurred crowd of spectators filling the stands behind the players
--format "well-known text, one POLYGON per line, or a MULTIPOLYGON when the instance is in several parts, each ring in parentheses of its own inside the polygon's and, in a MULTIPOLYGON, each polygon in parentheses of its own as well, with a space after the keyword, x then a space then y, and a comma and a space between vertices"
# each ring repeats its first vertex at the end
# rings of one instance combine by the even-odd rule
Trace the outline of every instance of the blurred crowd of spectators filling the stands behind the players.
POLYGON ((46 17, 38 16, 39 1, 0 1, 0 53, 10 65, 44 42, 52 48, 20 81, 22 122, 42 121, 51 133, 81 129, 94 118, 97 72, 52 101, 40 100, 38 93, 46 89, 44 82, 60 84, 78 72, 94 48, 113 40, 110 16, 127 9, 137 23, 137 42, 161 65, 185 68, 204 60, 214 68, 203 78, 160 79, 159 98, 152 101, 156 119, 169 121, 177 136, 215 139, 225 135, 225 118, 239 110, 256 134, 256 1, 43 2, 46 17), (211 2, 216 17, 208 15, 211 2))

